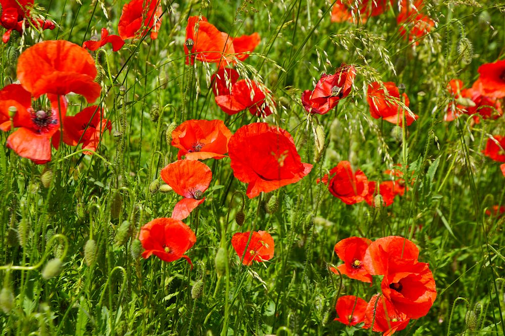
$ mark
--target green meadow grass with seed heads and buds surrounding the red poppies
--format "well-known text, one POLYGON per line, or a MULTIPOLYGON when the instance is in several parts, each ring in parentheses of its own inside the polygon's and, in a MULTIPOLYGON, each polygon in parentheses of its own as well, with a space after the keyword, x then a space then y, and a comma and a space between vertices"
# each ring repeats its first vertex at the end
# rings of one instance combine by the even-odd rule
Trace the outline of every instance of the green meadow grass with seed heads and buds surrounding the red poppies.
MULTIPOLYGON (((40 39, 81 45, 103 27, 117 34, 124 3, 37 2, 57 27, 0 45, 2 87, 16 81, 20 49, 40 39)), ((425 12, 436 26, 418 45, 399 34, 393 7, 353 24, 331 22, 332 3, 319 0, 161 5, 158 39, 93 53, 113 127, 98 155, 63 146, 50 163, 36 165, 5 147, 0 151, 2 335, 373 334, 333 319, 338 296, 369 299, 375 288, 333 274, 329 266, 341 263, 333 251, 339 240, 388 235, 419 246, 438 294, 430 312, 398 335, 505 334, 503 217, 486 214, 503 204, 505 183, 499 164, 481 153, 489 135, 505 132, 503 117, 444 121, 448 82, 459 78, 470 86, 481 64, 503 57, 504 5, 427 1, 425 12), (216 65, 185 64, 187 18, 197 15, 230 36, 260 34, 260 45, 237 68, 272 91, 272 115, 226 115, 210 88, 216 65), (462 43, 471 47, 462 49, 462 43), (322 73, 333 74, 341 63, 357 69, 351 94, 329 113, 308 117, 302 91, 313 90, 322 73), (366 90, 375 80, 405 85, 419 119, 403 128, 373 119, 366 90), (177 160, 167 129, 189 119, 221 119, 232 132, 266 120, 288 130, 302 162, 314 164, 299 182, 249 199, 228 158, 207 160, 213 180, 206 201, 184 220, 197 236, 187 252, 192 270, 184 259, 143 259, 136 243, 140 227, 170 217, 180 199, 150 186, 177 160), (315 139, 315 124, 324 137, 315 139), (369 179, 382 179, 384 170, 401 164, 413 183, 390 207, 348 206, 316 183, 341 160, 369 179), (274 237, 275 255, 247 267, 230 240, 253 225, 274 237), (86 262, 91 239, 96 248, 86 262), (218 277, 220 246, 229 262, 218 277), (54 259, 61 268, 45 268, 54 259)), ((71 106, 85 106, 80 97, 69 99, 71 106)), ((2 132, 2 144, 7 137, 2 132)))

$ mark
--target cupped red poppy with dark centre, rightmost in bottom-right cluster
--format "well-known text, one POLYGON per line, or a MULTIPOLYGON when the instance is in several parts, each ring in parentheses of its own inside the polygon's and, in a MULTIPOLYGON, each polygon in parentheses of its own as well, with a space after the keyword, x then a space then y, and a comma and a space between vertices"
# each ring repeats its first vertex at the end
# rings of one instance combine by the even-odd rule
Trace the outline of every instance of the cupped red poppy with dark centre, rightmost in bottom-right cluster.
POLYGON ((437 297, 429 264, 413 259, 389 259, 381 288, 394 308, 410 318, 426 315, 437 297))

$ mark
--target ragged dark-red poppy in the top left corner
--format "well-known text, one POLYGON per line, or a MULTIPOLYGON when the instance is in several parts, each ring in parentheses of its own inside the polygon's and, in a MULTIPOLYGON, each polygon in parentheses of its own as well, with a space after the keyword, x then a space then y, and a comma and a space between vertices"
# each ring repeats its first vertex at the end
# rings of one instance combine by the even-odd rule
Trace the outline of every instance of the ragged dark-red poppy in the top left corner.
POLYGON ((0 0, 0 26, 7 29, 2 36, 4 43, 9 42, 13 30, 22 33, 23 26, 30 27, 30 23, 37 29, 55 29, 55 24, 51 20, 30 17, 29 8, 32 6, 33 0, 0 0))

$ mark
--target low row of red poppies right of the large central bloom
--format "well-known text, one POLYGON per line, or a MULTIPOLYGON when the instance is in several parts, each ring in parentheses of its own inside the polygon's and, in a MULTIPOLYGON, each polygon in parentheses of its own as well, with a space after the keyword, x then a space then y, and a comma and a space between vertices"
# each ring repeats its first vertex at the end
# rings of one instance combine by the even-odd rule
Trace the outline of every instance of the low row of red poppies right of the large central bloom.
POLYGON ((401 178, 402 172, 399 169, 386 170, 384 174, 398 177, 396 180, 383 182, 369 181, 363 171, 357 169, 352 171, 349 161, 340 161, 333 167, 329 175, 325 174, 317 182, 328 185, 331 194, 348 205, 366 201, 370 206, 376 205, 377 196, 380 195, 383 206, 389 207, 393 204, 396 195, 405 193, 405 181, 401 178))

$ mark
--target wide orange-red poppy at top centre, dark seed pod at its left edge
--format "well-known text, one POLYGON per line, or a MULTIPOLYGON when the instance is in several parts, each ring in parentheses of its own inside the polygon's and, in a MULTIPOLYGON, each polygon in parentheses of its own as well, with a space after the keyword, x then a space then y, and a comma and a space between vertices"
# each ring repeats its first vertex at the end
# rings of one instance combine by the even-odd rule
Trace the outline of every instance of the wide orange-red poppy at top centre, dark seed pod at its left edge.
POLYGON ((260 35, 254 33, 231 37, 219 31, 205 17, 191 16, 186 26, 184 53, 186 64, 193 65, 196 58, 200 62, 218 63, 221 68, 234 62, 233 57, 243 61, 260 44, 260 35))

